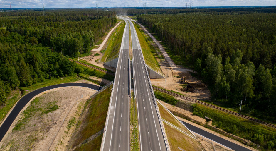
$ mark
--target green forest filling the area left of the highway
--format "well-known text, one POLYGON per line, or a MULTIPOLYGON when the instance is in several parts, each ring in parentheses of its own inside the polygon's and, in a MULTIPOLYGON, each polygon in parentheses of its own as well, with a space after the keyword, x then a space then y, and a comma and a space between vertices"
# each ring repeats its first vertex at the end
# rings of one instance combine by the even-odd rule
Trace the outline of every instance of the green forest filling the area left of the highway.
POLYGON ((0 104, 12 90, 73 75, 68 56, 89 52, 117 22, 115 12, 18 10, 0 13, 0 104))

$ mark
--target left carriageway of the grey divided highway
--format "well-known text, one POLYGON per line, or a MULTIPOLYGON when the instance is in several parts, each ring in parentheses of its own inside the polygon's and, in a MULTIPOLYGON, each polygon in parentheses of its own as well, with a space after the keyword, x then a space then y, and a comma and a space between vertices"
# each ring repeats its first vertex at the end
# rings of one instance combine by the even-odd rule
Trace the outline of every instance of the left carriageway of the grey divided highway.
POLYGON ((101 150, 129 150, 129 23, 119 52, 106 132, 101 150))

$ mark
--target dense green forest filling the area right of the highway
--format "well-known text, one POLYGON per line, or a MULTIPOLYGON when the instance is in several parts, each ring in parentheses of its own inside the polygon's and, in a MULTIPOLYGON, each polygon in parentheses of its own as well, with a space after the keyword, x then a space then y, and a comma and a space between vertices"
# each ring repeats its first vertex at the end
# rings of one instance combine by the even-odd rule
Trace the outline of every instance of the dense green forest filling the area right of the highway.
POLYGON ((228 107, 276 121, 276 14, 228 12, 139 15, 180 64, 228 107), (262 111, 262 114, 259 114, 262 111), (265 114, 263 114, 265 112, 265 114))

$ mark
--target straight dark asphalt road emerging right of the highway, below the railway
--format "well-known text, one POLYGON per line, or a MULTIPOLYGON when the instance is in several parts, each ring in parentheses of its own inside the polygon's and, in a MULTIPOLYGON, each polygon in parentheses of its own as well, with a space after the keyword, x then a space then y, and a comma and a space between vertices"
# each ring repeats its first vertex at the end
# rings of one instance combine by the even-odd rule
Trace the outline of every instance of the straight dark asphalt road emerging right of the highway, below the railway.
POLYGON ((193 126, 193 125, 191 125, 189 123, 186 123, 184 121, 181 121, 181 122, 184 123, 188 128, 190 128, 191 131, 193 131, 195 133, 198 133, 200 135, 203 135, 203 137, 209 138, 209 139, 211 139, 211 140, 213 140, 215 142, 218 142, 218 143, 220 143, 220 144, 222 144, 222 145, 224 145, 226 147, 229 147, 232 150, 250 151, 250 149, 248 149, 248 148, 245 148, 245 147, 240 146, 238 144, 232 143, 232 142, 230 142, 228 140, 225 140, 225 139, 223 139, 223 138, 221 138, 221 137, 219 137, 217 135, 214 135, 214 134, 209 133, 207 131, 204 131, 204 130, 196 127, 196 126, 193 126))

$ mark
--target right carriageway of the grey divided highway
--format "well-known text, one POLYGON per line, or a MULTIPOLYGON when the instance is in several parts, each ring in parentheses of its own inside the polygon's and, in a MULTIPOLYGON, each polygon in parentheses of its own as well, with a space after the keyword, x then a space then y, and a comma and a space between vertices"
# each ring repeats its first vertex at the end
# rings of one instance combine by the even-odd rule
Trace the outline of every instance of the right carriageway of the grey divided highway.
POLYGON ((144 58, 137 37, 136 30, 131 21, 130 31, 132 40, 132 64, 134 74, 135 99, 137 101, 140 148, 145 150, 166 150, 157 111, 153 102, 149 79, 144 66, 144 58))

